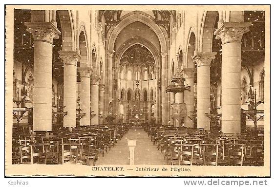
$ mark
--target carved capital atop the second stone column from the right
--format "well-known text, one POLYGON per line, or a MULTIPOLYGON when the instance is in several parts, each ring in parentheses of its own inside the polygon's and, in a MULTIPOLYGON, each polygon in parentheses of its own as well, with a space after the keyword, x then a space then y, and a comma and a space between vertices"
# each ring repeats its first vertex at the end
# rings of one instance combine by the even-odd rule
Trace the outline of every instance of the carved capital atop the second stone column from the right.
POLYGON ((198 53, 195 51, 192 59, 197 63, 197 67, 200 66, 210 66, 212 59, 215 58, 217 53, 198 53))

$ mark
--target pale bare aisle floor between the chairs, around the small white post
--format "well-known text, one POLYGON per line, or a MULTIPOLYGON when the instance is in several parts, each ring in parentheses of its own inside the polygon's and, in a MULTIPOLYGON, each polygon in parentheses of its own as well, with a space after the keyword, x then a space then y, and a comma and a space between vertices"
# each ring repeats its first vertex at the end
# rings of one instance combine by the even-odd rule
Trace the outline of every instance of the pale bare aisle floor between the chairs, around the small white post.
POLYGON ((99 153, 96 165, 129 165, 129 148, 127 140, 136 140, 135 147, 135 165, 166 165, 164 160, 164 153, 157 150, 157 146, 153 146, 150 137, 143 129, 130 129, 126 135, 123 136, 114 148, 111 148, 108 153, 102 157, 99 153))

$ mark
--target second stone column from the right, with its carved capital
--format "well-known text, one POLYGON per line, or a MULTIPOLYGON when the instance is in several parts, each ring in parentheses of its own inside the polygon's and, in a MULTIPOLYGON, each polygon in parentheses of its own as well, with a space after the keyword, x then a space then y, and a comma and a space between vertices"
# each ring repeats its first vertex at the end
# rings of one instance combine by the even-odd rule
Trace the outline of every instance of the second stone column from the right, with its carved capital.
POLYGON ((197 128, 210 130, 210 119, 205 115, 210 110, 210 65, 216 53, 197 53, 192 57, 197 62, 197 128))

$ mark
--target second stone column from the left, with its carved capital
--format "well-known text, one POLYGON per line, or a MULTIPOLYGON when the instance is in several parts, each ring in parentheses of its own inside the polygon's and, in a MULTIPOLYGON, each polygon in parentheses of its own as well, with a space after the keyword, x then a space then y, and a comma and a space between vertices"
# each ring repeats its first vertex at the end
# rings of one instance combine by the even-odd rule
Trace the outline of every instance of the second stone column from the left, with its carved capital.
POLYGON ((64 111, 68 112, 64 116, 63 127, 76 127, 76 73, 77 62, 81 57, 74 51, 59 52, 59 56, 64 64, 63 106, 65 106, 64 111))

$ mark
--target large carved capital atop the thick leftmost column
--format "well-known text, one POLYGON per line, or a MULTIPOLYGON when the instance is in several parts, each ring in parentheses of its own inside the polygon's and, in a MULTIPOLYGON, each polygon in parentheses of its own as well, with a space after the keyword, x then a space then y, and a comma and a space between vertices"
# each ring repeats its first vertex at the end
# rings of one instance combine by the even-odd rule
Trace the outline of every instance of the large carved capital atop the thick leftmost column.
POLYGON ((24 22, 27 31, 34 40, 42 40, 52 44, 54 38, 59 38, 61 32, 52 22, 24 22))

